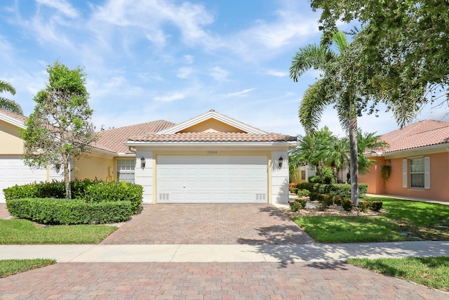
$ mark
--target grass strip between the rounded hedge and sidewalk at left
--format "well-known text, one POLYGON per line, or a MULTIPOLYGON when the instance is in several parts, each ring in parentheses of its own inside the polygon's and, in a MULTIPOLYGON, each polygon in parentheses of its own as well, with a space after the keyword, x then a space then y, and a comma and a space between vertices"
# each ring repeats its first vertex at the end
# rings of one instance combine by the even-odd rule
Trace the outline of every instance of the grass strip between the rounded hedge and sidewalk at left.
POLYGON ((116 229, 107 225, 42 227, 22 219, 0 220, 0 244, 98 244, 116 229))

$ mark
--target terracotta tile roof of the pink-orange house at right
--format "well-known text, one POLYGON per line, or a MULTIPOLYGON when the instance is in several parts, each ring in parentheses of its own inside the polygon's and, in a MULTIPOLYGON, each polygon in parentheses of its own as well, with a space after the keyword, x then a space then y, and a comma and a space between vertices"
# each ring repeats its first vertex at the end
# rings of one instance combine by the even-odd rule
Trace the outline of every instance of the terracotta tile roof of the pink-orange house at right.
POLYGON ((385 133, 381 138, 389 143, 387 153, 449 143, 449 122, 424 120, 385 133))

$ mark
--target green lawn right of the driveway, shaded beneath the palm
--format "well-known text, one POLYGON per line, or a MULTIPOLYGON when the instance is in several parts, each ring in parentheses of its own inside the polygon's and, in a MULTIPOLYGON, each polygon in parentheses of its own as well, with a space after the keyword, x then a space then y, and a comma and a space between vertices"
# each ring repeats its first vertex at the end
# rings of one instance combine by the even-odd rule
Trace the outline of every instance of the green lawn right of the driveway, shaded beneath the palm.
POLYGON ((295 221, 317 242, 396 242, 449 240, 449 205, 387 197, 382 201, 388 214, 382 216, 302 216, 295 221))

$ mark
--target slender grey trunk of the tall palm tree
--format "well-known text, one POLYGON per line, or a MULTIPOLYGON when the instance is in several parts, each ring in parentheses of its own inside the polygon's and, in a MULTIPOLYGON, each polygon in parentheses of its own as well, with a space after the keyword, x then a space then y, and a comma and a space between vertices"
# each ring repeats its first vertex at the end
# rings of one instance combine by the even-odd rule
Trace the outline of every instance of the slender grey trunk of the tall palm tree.
POLYGON ((351 201, 358 205, 357 117, 349 119, 349 152, 351 169, 351 201))

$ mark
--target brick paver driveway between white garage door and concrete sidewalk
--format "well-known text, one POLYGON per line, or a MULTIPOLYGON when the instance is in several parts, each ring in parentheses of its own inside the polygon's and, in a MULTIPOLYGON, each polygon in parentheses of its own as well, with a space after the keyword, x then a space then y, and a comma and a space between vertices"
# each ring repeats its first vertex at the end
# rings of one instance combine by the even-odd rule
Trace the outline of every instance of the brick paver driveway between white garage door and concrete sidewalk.
POLYGON ((271 204, 146 204, 102 244, 304 244, 314 240, 271 204))

